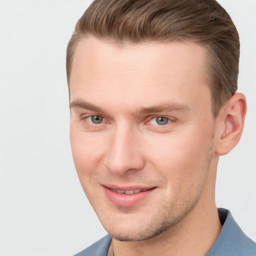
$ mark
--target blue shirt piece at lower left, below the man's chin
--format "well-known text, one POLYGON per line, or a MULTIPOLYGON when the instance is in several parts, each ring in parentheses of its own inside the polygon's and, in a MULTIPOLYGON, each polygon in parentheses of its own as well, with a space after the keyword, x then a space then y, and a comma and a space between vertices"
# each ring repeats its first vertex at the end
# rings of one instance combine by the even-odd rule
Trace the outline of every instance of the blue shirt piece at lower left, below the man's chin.
POLYGON ((86 249, 80 251, 74 256, 106 256, 109 248, 111 237, 109 234, 94 242, 86 249))

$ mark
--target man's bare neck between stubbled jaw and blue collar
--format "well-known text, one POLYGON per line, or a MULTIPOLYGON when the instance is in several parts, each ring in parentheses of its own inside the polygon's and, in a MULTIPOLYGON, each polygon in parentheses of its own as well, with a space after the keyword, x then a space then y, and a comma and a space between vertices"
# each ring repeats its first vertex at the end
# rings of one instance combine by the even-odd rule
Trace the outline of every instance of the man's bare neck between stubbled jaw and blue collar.
MULTIPOLYGON (((216 172, 209 172, 209 180, 216 172)), ((215 206, 215 182, 206 184, 194 208, 178 223, 161 234, 142 241, 112 239, 109 255, 114 256, 200 256, 205 255, 216 240, 221 224, 215 206), (214 183, 214 184, 212 184, 214 183), (113 254, 114 253, 114 254, 113 254)))

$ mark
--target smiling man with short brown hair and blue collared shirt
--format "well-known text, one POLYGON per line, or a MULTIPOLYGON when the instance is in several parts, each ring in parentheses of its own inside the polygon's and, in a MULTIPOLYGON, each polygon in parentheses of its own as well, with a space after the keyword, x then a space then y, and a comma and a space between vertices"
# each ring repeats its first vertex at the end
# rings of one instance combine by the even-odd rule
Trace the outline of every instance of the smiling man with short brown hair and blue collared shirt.
POLYGON ((214 0, 95 0, 67 46, 70 141, 109 233, 77 255, 255 255, 214 200, 238 142, 239 38, 214 0))

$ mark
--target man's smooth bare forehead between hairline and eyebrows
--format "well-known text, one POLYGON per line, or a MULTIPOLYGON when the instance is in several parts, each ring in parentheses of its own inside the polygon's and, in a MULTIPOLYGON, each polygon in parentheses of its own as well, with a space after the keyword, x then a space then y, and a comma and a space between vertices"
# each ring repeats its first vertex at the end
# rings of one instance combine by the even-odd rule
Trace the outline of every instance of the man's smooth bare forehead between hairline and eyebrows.
POLYGON ((200 96, 205 86, 208 93, 205 51, 188 41, 117 45, 84 38, 74 52, 70 100, 90 97, 96 101, 107 94, 122 104, 127 95, 147 104, 146 100, 154 101, 159 95, 162 100, 182 103, 196 93, 200 96))

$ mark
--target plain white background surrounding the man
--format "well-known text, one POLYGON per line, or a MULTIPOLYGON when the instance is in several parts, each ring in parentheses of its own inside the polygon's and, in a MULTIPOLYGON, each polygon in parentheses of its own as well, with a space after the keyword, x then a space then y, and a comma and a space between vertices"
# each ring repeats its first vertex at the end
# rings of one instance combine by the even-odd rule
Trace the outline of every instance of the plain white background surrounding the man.
MULTIPOLYGON (((0 255, 68 256, 106 232, 69 145, 65 49, 88 0, 0 0, 0 255)), ((217 206, 256 240, 256 1, 219 0, 240 34, 248 113, 220 158, 217 206)))

